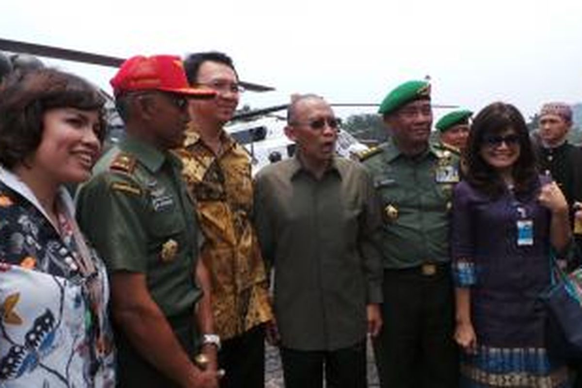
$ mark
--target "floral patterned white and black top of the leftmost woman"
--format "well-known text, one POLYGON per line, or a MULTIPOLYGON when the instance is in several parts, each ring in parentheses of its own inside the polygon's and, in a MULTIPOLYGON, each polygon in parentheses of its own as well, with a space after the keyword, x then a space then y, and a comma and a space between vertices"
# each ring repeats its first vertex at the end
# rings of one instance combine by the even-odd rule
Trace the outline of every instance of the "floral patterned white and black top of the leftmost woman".
MULTIPOLYGON (((74 219, 64 188, 59 198, 74 219)), ((76 249, 26 185, 0 169, 1 387, 115 386, 105 268, 91 251, 101 277, 99 320, 74 264, 76 249)))

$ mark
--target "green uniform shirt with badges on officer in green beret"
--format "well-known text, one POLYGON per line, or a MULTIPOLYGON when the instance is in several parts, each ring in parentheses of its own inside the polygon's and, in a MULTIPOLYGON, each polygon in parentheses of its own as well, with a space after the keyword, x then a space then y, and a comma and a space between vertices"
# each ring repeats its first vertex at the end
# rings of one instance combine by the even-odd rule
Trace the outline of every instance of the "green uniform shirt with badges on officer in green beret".
POLYGON ((412 268, 447 262, 453 186, 459 155, 431 144, 423 154, 402 154, 392 140, 364 152, 361 161, 381 201, 384 267, 412 268))

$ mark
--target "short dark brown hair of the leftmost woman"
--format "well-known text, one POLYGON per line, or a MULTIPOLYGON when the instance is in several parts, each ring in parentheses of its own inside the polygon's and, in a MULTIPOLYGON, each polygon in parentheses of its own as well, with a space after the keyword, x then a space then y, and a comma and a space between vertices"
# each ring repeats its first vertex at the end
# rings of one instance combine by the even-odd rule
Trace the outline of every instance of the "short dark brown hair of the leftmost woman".
POLYGON ((44 113, 54 108, 99 111, 105 136, 105 97, 88 81, 56 69, 14 72, 0 90, 0 164, 12 169, 42 140, 44 113))

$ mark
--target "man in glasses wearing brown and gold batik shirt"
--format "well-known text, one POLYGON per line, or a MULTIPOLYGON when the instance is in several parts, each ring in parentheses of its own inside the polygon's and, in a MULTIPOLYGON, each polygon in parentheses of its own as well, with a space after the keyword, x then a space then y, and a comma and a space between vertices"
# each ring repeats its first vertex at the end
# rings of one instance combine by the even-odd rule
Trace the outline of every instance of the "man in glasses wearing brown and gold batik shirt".
POLYGON ((191 86, 217 97, 190 101, 191 127, 177 152, 196 198, 205 241, 201 257, 210 272, 214 326, 222 339, 222 387, 264 386, 264 323, 272 318, 268 284, 251 226, 253 188, 249 154, 223 125, 232 119, 242 88, 232 60, 218 52, 189 55, 191 86))

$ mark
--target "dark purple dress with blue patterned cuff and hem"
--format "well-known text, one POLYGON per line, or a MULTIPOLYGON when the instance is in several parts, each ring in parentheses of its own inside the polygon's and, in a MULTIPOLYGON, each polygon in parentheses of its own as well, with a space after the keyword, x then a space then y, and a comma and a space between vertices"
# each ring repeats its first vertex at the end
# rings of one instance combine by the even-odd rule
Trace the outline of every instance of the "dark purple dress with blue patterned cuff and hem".
POLYGON ((471 289, 477 335, 477 354, 461 357, 463 387, 568 386, 567 369, 544 346, 538 297, 550 282, 551 213, 537 193, 492 199, 466 181, 455 187, 453 269, 457 287, 471 289), (518 222, 533 226, 526 239, 518 222))

